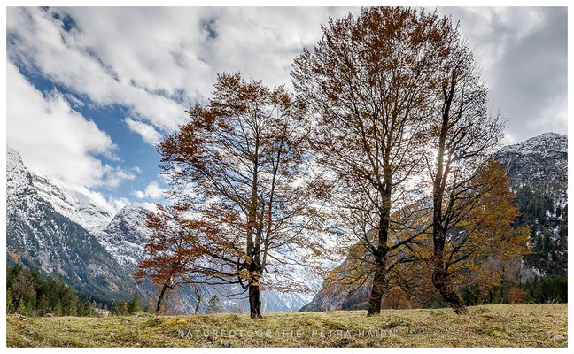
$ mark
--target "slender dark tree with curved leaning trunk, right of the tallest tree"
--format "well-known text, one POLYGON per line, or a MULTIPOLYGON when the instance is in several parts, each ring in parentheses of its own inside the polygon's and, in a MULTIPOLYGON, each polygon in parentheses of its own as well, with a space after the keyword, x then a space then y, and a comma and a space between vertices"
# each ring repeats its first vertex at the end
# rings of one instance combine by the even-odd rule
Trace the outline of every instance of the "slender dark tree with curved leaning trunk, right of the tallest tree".
POLYGON ((450 21, 447 29, 441 41, 446 55, 438 65, 436 104, 429 119, 430 149, 425 155, 432 185, 431 267, 440 295, 454 312, 465 313, 453 284, 457 265, 476 261, 480 250, 498 254, 504 242, 519 250, 524 230, 512 235, 517 214, 508 178, 502 167, 487 163, 503 136, 503 121, 487 112, 486 89, 468 45, 450 21), (493 224, 496 227, 485 234, 493 224))

